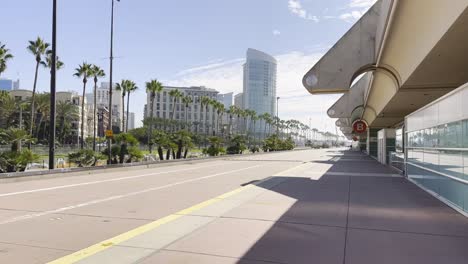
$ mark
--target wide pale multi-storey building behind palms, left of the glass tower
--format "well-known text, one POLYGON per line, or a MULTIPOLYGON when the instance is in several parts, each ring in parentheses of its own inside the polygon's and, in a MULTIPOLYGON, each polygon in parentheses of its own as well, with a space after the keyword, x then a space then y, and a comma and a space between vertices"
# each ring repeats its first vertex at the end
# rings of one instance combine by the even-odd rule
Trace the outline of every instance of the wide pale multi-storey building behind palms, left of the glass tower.
MULTIPOLYGON (((218 97, 218 91, 204 86, 199 87, 170 87, 165 86, 163 91, 156 95, 154 105, 153 105, 153 115, 154 118, 166 119, 171 118, 172 109, 173 109, 173 98, 169 95, 169 92, 172 90, 179 90, 184 94, 184 96, 189 96, 192 98, 192 103, 186 109, 185 105, 182 103, 182 100, 178 99, 176 101, 174 120, 191 123, 195 131, 200 133, 210 132, 214 128, 216 117, 215 111, 212 107, 208 107, 206 111, 205 106, 201 108, 201 97, 206 96, 213 100, 216 100, 218 97), (187 113, 187 116, 185 116, 187 113)), ((147 103, 145 109, 145 118, 149 117, 151 113, 151 100, 150 94, 147 94, 147 103)))

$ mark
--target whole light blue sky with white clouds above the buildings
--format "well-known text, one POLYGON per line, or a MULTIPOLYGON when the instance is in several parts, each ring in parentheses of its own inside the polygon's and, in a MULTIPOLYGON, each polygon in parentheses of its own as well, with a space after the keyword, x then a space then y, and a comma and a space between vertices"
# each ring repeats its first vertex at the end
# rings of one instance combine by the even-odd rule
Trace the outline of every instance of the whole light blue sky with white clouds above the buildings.
MULTIPOLYGON (((80 91, 80 80, 72 76, 79 63, 108 69, 110 0, 58 2, 58 55, 65 62, 58 89, 80 91)), ((247 48, 255 48, 279 60, 278 94, 285 98, 280 115, 311 118, 315 127, 334 131, 326 110, 338 97, 308 95, 301 78, 374 2, 122 0, 115 9, 114 78, 137 82, 131 111, 141 119, 145 81, 240 92, 242 60, 247 48)), ((51 39, 51 3, 2 0, 0 41, 15 56, 2 78, 20 78, 22 89, 31 89, 34 74, 27 41, 51 39)), ((42 69, 39 91, 48 90, 48 82, 42 69)))

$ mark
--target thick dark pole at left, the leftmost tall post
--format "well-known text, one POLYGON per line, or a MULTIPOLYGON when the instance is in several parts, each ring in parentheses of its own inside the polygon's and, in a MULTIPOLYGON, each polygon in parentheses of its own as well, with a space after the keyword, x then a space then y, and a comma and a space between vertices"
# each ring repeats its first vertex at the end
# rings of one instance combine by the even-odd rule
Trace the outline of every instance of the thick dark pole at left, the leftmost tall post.
POLYGON ((55 168, 55 90, 57 73, 57 0, 52 4, 52 59, 50 69, 49 170, 55 168))

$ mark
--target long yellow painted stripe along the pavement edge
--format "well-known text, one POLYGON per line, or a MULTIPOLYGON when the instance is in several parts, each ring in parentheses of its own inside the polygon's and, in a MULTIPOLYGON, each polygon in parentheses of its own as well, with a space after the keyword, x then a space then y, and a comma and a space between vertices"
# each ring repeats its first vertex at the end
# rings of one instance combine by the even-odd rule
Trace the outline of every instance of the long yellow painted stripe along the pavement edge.
MULTIPOLYGON (((268 179, 266 179, 268 180, 268 179)), ((82 249, 80 251, 77 251, 75 253, 72 253, 70 255, 67 255, 67 256, 64 256, 62 258, 59 258, 57 260, 54 260, 54 261, 51 261, 49 262, 48 264, 69 264, 69 263, 76 263, 82 259, 85 259, 85 258, 88 258, 88 257, 91 257, 92 255, 95 255, 101 251, 104 251, 106 249, 109 249, 111 248, 112 246, 114 245, 117 245, 117 244, 120 244, 122 242, 125 242, 131 238, 134 238, 136 236, 139 236, 143 233, 146 233, 148 231, 151 231, 159 226, 162 226, 164 224, 167 224, 169 222, 172 222, 178 218, 181 218, 183 217, 184 215, 188 215, 194 211, 198 211, 202 208, 205 208, 211 204, 214 204, 216 202, 219 202, 219 201, 222 201, 228 197, 231 197, 235 194, 238 194, 246 189, 249 189, 249 188, 252 188, 254 185, 247 185, 247 186, 244 186, 244 187, 240 187, 238 189, 235 189, 233 191, 230 191, 230 192, 227 192, 225 194, 222 194, 220 196, 217 196, 213 199, 210 199, 210 200, 207 200, 207 201, 204 201, 204 202, 201 202, 197 205, 194 205, 192 207, 189 207, 189 208, 186 208, 184 210, 181 210, 177 213, 174 213, 174 214, 171 214, 171 215, 168 215, 166 217, 163 217, 163 218, 160 218, 154 222, 151 222, 151 223, 148 223, 148 224, 145 224, 145 225, 142 225, 140 227, 137 227, 133 230, 130 230, 128 232, 125 232, 123 234, 120 234, 118 236, 115 236, 113 238, 110 238, 110 239, 107 239, 107 240, 104 240, 102 242, 99 242, 95 245, 92 245, 90 247, 87 247, 85 249, 82 249)))

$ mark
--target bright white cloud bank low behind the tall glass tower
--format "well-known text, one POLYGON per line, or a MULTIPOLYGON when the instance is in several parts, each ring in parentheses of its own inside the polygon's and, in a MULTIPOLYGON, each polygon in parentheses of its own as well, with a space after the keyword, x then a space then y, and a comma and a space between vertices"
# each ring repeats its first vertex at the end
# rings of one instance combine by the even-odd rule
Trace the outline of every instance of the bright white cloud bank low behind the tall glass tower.
MULTIPOLYGON (((289 52, 275 56, 278 60, 277 94, 279 112, 284 119, 298 119, 313 127, 335 132, 334 120, 326 112, 340 95, 310 95, 302 85, 304 74, 322 57, 319 52, 289 52)), ((242 92, 245 59, 232 59, 184 70, 163 83, 174 86, 206 86, 221 93, 242 92)))

